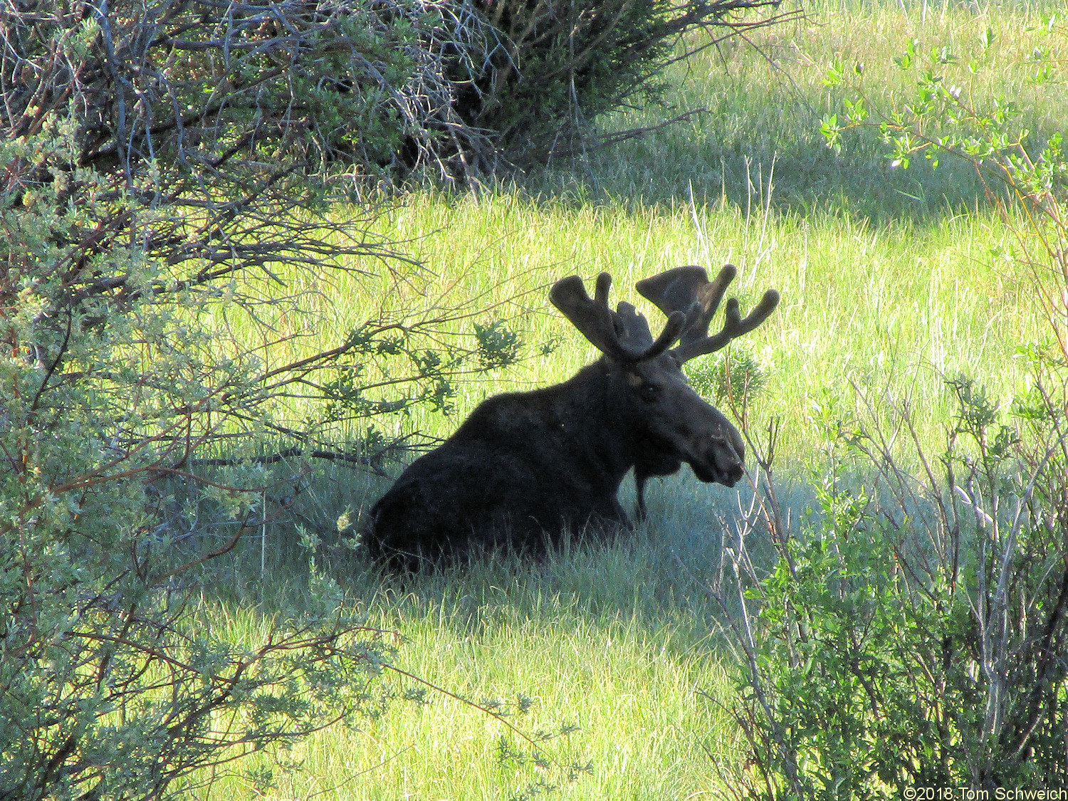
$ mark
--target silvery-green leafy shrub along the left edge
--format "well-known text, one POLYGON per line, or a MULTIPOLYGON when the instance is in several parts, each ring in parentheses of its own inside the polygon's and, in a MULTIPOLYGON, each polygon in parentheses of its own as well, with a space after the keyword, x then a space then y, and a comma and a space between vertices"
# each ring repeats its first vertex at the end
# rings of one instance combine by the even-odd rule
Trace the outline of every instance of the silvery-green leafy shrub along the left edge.
MULTIPOLYGON (((26 141, 43 160, 70 148, 26 141)), ((23 142, 5 143, 9 175, 23 142)), ((166 273, 125 244, 85 267, 87 283, 100 268, 125 279, 122 311, 79 297, 66 242, 87 209, 49 189, 20 207, 9 193, 0 213, 0 797, 168 798, 198 768, 373 709, 389 648, 328 581, 247 647, 189 609, 213 559, 254 528, 262 488, 255 469, 208 481, 188 456, 269 390, 153 299, 166 273), (182 480, 206 500, 184 501, 182 480)))

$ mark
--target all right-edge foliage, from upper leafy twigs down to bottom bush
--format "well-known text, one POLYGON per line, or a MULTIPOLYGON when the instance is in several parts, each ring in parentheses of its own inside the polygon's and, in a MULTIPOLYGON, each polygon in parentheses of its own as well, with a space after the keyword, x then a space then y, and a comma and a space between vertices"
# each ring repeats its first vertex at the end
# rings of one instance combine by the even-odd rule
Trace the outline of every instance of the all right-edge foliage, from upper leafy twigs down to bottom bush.
MULTIPOLYGON (((980 37, 983 52, 994 38, 980 37)), ((770 494, 742 524, 735 568, 745 590, 728 625, 745 665, 736 716, 754 759, 742 779, 759 798, 1068 783, 1068 171, 1058 135, 1035 144, 1014 128, 1010 101, 980 110, 945 80, 939 65, 955 60, 942 48, 925 61, 910 46, 898 65, 916 70, 916 94, 875 123, 863 69, 847 78, 833 64, 828 82, 854 81, 857 93, 823 134, 833 147, 849 128, 876 125, 902 169, 917 152, 971 161, 1052 335, 1022 349, 1030 389, 1007 414, 975 381, 948 381, 958 411, 937 458, 907 402, 865 397, 867 414, 839 419, 837 439, 873 477, 836 459, 800 533, 770 494), (767 578, 739 555, 758 518, 779 549, 767 578)))

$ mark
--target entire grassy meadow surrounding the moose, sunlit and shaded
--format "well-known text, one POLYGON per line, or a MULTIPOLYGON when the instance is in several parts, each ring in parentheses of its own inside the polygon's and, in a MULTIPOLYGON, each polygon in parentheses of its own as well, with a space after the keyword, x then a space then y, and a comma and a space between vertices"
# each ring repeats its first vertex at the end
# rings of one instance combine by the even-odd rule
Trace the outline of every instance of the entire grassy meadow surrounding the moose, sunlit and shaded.
MULTIPOLYGON (((424 264, 421 297, 391 293, 387 279, 320 277, 294 287, 317 290, 309 320, 277 324, 311 334, 293 344, 299 352, 329 347, 383 302, 442 295, 499 303, 487 319, 511 318, 529 358, 462 384, 452 414, 388 423, 395 433, 443 437, 487 395, 562 380, 595 357, 549 305, 552 281, 607 270, 613 300, 637 301, 633 282, 646 276, 734 263, 743 309, 767 287, 783 297, 772 318, 733 347, 766 375, 748 423, 759 433, 780 421, 781 493, 798 520, 812 497, 806 485, 822 469, 826 429, 848 417, 858 391, 908 398, 924 410, 921 435, 934 445, 953 413, 945 377, 976 377, 1007 405, 1025 381, 1019 347, 1046 336, 1032 276, 1011 258, 1011 230, 968 166, 932 171, 918 159, 894 169, 874 136, 847 136, 841 153, 823 145, 819 120, 838 108, 822 82, 828 63, 863 62, 869 99, 893 109, 904 80, 893 57, 908 41, 967 52, 990 28, 993 67, 970 76, 961 64, 961 81, 972 81, 979 98, 1016 98, 1025 127, 1052 131, 1068 119, 1068 91, 1058 80, 1033 80, 1034 52, 1045 48, 1062 64, 1068 58, 1068 21, 1049 25, 1058 6, 817 0, 804 19, 673 65, 668 109, 603 122, 623 130, 687 109, 706 113, 512 182, 399 199, 377 233, 406 240, 424 264), (543 346, 551 352, 543 356, 543 346)), ((656 331, 659 312, 639 305, 656 331)), ((324 530, 346 508, 359 517, 388 485, 312 467, 295 509, 303 524, 324 530)), ((335 578, 372 625, 397 632, 395 664, 449 693, 500 701, 527 733, 555 731, 538 747, 552 764, 503 753, 502 736, 512 748, 532 747, 430 690, 425 703, 397 701, 362 732, 329 729, 303 743, 287 758, 304 770, 279 773, 269 798, 462 801, 529 797, 547 785, 557 786, 549 797, 566 799, 728 795, 745 754, 718 703, 732 692, 733 669, 708 587, 723 580, 721 537, 750 492, 702 485, 684 469, 650 484, 649 519, 633 534, 575 543, 538 564, 502 556, 397 582, 352 557, 335 578), (568 765, 582 769, 572 775, 568 765)), ((622 494, 630 505, 629 482, 622 494)), ((220 608, 251 607, 226 613, 226 625, 250 634, 265 616, 299 607, 305 580, 295 529, 274 525, 267 536, 263 554, 258 539, 244 545, 225 602, 205 601, 214 619, 220 608)), ((759 543, 750 548, 761 552, 759 543)), ((389 672, 383 680, 400 694, 419 687, 389 672)), ((256 794, 235 776, 197 797, 256 794)))

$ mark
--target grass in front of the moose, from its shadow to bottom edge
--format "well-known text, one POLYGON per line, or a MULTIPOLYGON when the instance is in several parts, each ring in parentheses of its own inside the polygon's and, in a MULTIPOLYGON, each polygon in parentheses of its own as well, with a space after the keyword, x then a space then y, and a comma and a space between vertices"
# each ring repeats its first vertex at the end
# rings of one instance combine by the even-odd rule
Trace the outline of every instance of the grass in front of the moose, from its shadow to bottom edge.
MULTIPOLYGON (((654 485, 648 523, 615 541, 568 543, 540 561, 498 555, 406 579, 384 578, 359 556, 335 562, 367 623, 402 638, 398 668, 493 706, 524 732, 575 729, 538 744, 552 764, 537 768, 502 758, 502 737, 509 750, 533 749, 500 721, 431 691, 425 706, 394 703, 358 734, 331 729, 302 743, 287 757, 305 771, 285 776, 280 797, 496 799, 540 781, 559 785, 560 798, 721 795, 709 752, 744 758, 724 710, 731 680, 708 593, 720 580, 734 493, 690 490, 685 501, 654 485), (569 776, 561 767, 569 764, 591 770, 569 776)), ((624 502, 633 503, 629 492, 624 502)), ((225 582, 227 607, 299 609, 293 563, 302 554, 283 532, 268 536, 273 586, 265 594, 252 568, 258 544, 246 543, 251 553, 238 555, 225 582), (278 577, 288 578, 279 586, 278 577)), ((256 619, 244 613, 230 625, 251 630, 256 619)), ((422 687, 390 672, 383 680, 398 695, 422 687)), ((213 797, 241 791, 240 782, 222 782, 213 797)))

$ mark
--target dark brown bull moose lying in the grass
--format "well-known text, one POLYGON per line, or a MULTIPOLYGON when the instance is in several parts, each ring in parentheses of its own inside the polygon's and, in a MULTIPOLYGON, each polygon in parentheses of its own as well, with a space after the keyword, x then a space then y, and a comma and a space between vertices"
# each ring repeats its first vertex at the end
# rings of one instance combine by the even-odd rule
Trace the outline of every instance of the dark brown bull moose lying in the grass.
POLYGON ((703 267, 676 267, 639 281, 638 292, 668 315, 656 339, 630 303, 609 308, 607 272, 593 298, 578 276, 553 284, 549 299, 601 357, 554 387, 487 398, 415 459, 371 511, 372 556, 417 569, 486 547, 544 548, 567 529, 628 528, 616 493, 631 468, 639 519, 645 482, 684 461, 702 482, 733 487, 744 473, 741 436, 694 392, 681 366, 774 311, 774 289, 744 318, 731 298, 723 328, 709 335, 736 273, 726 265, 709 281, 703 267))

